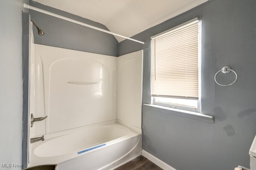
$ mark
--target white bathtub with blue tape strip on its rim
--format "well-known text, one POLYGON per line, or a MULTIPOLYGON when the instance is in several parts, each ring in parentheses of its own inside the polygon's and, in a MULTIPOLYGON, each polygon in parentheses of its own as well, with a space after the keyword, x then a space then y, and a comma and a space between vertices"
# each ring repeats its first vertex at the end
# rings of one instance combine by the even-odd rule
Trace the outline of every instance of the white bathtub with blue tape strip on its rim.
POLYGON ((29 167, 57 164, 58 170, 110 170, 141 155, 141 133, 119 123, 77 130, 47 134, 44 141, 32 143, 29 167))

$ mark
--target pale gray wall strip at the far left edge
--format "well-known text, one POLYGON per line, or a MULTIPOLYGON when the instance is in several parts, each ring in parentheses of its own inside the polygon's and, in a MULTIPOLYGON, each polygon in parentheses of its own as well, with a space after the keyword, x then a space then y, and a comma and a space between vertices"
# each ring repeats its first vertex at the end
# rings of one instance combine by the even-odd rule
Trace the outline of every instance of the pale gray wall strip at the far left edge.
POLYGON ((1 1, 0 16, 0 163, 21 164, 22 1, 1 1))

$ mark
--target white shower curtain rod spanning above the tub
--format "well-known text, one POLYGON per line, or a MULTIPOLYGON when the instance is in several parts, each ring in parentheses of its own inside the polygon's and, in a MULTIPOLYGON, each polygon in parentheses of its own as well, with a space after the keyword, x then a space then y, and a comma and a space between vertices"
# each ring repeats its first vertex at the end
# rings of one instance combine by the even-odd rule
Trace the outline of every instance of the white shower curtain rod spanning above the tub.
POLYGON ((125 39, 130 39, 132 41, 135 41, 135 42, 138 42, 138 43, 141 43, 141 44, 144 44, 144 42, 142 41, 138 41, 136 39, 132 39, 132 38, 129 38, 129 37, 125 37, 123 35, 120 35, 120 34, 117 34, 117 33, 113 33, 113 32, 110 32, 110 31, 107 31, 105 29, 101 29, 101 28, 98 28, 98 27, 94 27, 92 25, 89 25, 89 24, 86 24, 86 23, 83 23, 83 22, 80 22, 80 21, 76 21, 76 20, 73 20, 73 19, 70 19, 70 18, 67 18, 67 17, 64 17, 64 16, 60 16, 58 14, 54 14, 52 12, 48 12, 48 11, 45 11, 45 10, 41 10, 39 8, 36 8, 34 6, 30 6, 28 4, 25 4, 23 3, 23 8, 28 8, 28 9, 31 9, 31 10, 35 10, 35 11, 38 11, 38 12, 42 12, 44 14, 47 14, 47 15, 50 15, 50 16, 54 16, 54 17, 57 17, 57 18, 60 18, 62 20, 66 20, 66 21, 70 21, 70 22, 73 22, 73 23, 77 23, 79 25, 83 25, 83 26, 86 26, 86 27, 89 27, 89 28, 92 28, 92 29, 96 29, 98 31, 102 31, 102 32, 105 32, 105 33, 109 33, 109 34, 112 34, 112 35, 116 35, 118 37, 122 37, 122 38, 125 38, 125 39))

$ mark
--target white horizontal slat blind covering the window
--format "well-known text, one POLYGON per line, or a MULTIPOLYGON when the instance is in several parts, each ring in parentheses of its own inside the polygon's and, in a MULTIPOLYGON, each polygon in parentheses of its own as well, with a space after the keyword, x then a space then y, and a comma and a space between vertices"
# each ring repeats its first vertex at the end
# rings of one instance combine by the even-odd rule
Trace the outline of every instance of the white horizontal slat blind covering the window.
POLYGON ((198 19, 151 38, 151 95, 198 99, 198 19))

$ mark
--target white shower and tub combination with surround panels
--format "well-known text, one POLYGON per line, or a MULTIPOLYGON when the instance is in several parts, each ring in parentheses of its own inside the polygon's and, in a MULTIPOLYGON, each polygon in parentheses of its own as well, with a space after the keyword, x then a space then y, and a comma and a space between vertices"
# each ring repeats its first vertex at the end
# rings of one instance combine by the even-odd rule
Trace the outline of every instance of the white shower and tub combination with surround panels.
POLYGON ((141 155, 142 51, 120 57, 32 44, 28 167, 110 170, 141 155), (118 98, 118 100, 117 100, 118 98))

